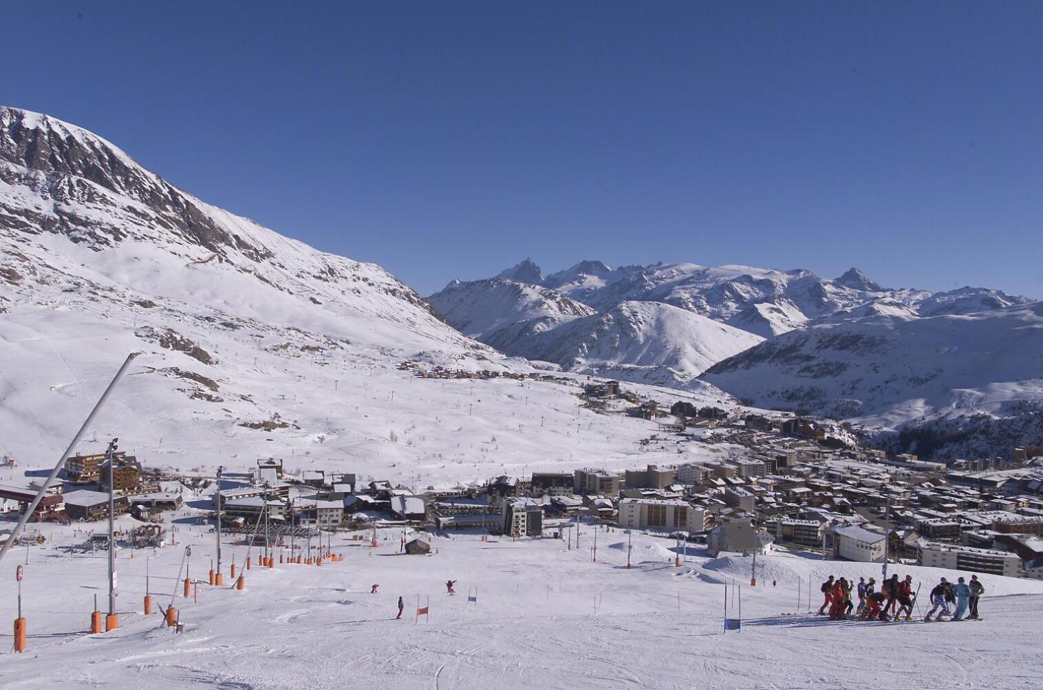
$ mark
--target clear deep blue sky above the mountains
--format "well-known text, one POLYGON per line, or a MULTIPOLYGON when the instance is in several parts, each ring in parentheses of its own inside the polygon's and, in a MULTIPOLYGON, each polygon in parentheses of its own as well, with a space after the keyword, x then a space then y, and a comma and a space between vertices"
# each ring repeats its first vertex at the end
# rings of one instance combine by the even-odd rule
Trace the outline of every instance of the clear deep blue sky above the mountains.
POLYGON ((1043 3, 0 13, 0 102, 422 294, 532 256, 1043 297, 1043 3))

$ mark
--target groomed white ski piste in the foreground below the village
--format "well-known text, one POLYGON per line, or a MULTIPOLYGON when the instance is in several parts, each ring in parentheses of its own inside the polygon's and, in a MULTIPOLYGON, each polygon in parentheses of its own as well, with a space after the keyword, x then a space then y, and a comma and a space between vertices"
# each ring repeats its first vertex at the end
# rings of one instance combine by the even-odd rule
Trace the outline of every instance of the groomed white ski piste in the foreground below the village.
MULTIPOLYGON (((238 591, 228 566, 235 560, 243 572, 246 547, 225 538, 224 585, 209 586, 214 533, 191 513, 174 518, 176 545, 118 551, 120 626, 108 633, 87 632, 95 595, 106 611, 107 581, 103 550, 71 548, 86 541, 82 527, 45 525, 44 544, 10 551, 0 565, 0 614, 16 616, 21 564, 28 639, 25 652, 11 654, 4 626, 0 687, 998 690, 1038 688, 1043 677, 1043 583, 1035 581, 980 575, 984 620, 973 624, 834 622, 815 613, 820 583, 879 580, 879 564, 776 550, 757 558, 750 587, 751 558, 711 559, 687 545, 678 567, 674 540, 647 534, 633 535, 628 569, 627 535, 614 527, 598 529, 593 562, 595 528, 583 525, 572 549, 558 539, 461 533, 429 536, 431 556, 407 556, 401 528, 381 529, 375 548, 372 533, 335 536, 332 551, 343 561, 319 566, 281 564, 276 547, 274 567, 263 568, 254 548, 238 591), (178 582, 186 546, 198 601, 178 582), (142 614, 146 567, 150 616, 142 614), (454 596, 447 580, 457 581, 454 596), (417 617, 428 597, 430 616, 417 617), (725 633, 725 607, 736 617, 739 598, 742 627, 725 633), (171 603, 181 633, 163 624, 171 603)), ((921 614, 940 576, 967 574, 894 564, 891 572, 922 583, 921 614)))

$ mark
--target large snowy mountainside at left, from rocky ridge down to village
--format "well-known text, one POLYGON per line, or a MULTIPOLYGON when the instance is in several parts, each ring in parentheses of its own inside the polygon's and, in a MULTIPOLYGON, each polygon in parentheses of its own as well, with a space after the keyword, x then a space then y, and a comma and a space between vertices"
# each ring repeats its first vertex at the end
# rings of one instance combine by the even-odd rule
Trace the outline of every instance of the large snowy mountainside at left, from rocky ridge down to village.
MULTIPOLYGON (((533 306, 520 317, 541 314, 539 290, 522 291, 533 306)), ((555 309, 592 313, 566 298, 555 309)), ((569 469, 589 453, 629 466, 649 433, 581 409, 567 376, 418 378, 403 360, 533 370, 380 266, 207 204, 82 128, 0 108, 0 453, 52 464, 131 351, 143 354, 78 449, 119 437, 153 466, 277 457, 419 487, 569 469)), ((711 388, 660 399, 722 397, 700 387, 711 388)))

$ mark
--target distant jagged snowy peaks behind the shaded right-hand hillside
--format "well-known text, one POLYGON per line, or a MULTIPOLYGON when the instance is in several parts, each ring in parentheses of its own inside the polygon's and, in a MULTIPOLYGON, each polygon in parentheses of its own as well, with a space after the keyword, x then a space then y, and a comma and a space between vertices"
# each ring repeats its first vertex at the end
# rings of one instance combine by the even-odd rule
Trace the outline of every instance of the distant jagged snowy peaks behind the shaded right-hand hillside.
POLYGON ((454 280, 429 300, 454 326, 509 354, 631 380, 649 380, 639 370, 652 366, 670 371, 654 377, 664 385, 683 385, 714 364, 713 358, 758 342, 742 331, 774 338, 817 324, 965 315, 1029 301, 985 288, 933 294, 888 289, 855 268, 830 279, 802 269, 662 263, 612 268, 583 261, 547 274, 530 258, 494 280, 454 280), (638 313, 637 303, 654 306, 638 313), (580 314, 580 305, 599 316, 580 314), (707 320, 732 328, 711 332, 707 320), (635 336, 635 328, 645 330, 635 336))

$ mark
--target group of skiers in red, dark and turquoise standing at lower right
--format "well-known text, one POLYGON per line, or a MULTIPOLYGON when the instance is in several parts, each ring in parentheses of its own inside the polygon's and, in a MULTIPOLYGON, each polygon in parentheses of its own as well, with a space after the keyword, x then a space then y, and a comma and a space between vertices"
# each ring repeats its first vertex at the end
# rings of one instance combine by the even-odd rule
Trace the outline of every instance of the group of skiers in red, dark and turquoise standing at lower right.
MULTIPOLYGON (((949 605, 955 603, 955 615, 952 620, 977 620, 978 599, 985 593, 985 587, 978 581, 977 575, 971 575, 971 582, 965 583, 963 577, 956 585, 952 585, 945 577, 930 591, 930 601, 933 605, 927 612, 924 620, 931 620, 931 616, 938 609, 941 612, 933 620, 943 620, 942 616, 949 615, 949 605), (969 614, 968 614, 969 610, 969 614)), ((905 575, 904 580, 899 580, 897 574, 883 581, 880 589, 876 589, 876 578, 870 577, 867 582, 865 577, 859 577, 858 583, 853 585, 844 577, 833 578, 822 583, 823 602, 819 608, 819 615, 825 615, 828 609, 830 620, 847 620, 854 609, 859 620, 912 620, 913 607, 916 605, 917 592, 913 589, 913 575, 905 575), (851 600, 852 591, 858 599, 855 608, 851 600)))

